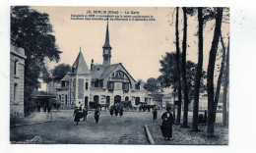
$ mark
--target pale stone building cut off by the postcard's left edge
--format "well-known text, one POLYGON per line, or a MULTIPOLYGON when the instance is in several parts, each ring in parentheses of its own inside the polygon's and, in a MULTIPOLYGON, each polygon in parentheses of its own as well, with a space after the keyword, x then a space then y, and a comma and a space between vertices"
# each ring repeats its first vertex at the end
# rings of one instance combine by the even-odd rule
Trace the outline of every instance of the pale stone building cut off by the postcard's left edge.
POLYGON ((10 114, 24 117, 25 51, 11 42, 10 48, 10 114))

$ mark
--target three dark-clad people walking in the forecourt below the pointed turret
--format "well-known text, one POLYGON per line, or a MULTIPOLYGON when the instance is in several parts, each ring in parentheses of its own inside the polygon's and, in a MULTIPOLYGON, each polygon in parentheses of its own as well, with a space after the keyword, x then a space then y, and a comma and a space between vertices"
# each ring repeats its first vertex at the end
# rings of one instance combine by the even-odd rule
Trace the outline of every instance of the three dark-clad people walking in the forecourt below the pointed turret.
MULTIPOLYGON (((95 111, 96 124, 98 124, 99 115, 100 115, 99 109, 96 108, 96 111, 95 111)), ((83 109, 83 105, 80 105, 79 107, 78 106, 75 107, 73 117, 74 117, 74 122, 76 122, 77 125, 80 122, 80 119, 84 118, 83 121, 85 122, 87 120, 87 116, 88 116, 88 108, 87 107, 84 107, 84 109, 83 109)))

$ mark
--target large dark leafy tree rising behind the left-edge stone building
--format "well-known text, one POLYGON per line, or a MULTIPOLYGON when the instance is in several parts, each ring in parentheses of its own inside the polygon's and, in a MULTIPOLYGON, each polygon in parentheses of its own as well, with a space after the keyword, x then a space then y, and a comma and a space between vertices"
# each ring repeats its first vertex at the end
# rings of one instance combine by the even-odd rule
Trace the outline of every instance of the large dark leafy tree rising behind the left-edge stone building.
POLYGON ((11 7, 11 40, 25 50, 25 113, 32 103, 32 91, 40 86, 38 78, 44 59, 58 62, 61 51, 55 44, 49 16, 28 6, 11 7))

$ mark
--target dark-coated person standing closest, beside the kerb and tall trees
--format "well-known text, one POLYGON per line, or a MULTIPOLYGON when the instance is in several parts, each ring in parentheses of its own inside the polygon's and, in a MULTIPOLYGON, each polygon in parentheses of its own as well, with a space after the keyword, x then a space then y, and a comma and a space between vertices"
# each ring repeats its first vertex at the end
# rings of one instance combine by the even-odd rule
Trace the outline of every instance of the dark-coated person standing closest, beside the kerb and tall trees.
POLYGON ((162 114, 161 120, 161 132, 164 137, 164 140, 169 140, 172 136, 172 125, 174 125, 174 120, 172 113, 170 113, 170 107, 166 108, 166 112, 162 114))

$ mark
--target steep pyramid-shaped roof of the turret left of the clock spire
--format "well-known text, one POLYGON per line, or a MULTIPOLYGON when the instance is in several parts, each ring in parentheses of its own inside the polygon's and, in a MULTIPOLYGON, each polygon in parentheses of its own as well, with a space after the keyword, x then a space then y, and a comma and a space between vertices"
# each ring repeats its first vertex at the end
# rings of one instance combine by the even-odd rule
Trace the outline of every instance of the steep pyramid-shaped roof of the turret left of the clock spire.
POLYGON ((78 57, 72 66, 72 70, 74 68, 75 68, 75 71, 72 72, 74 74, 90 74, 90 70, 88 69, 87 63, 86 63, 84 56, 81 52, 81 47, 80 47, 80 52, 78 54, 78 57))

